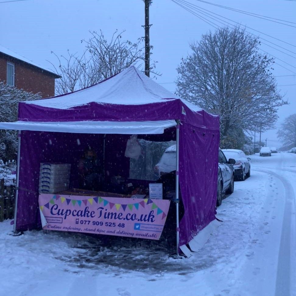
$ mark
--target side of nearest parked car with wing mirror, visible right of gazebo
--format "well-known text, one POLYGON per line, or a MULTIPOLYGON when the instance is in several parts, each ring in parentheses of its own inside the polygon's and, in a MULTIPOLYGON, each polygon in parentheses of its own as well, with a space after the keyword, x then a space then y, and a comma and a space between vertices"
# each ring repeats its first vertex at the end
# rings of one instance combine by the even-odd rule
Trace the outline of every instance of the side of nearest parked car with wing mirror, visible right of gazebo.
POLYGON ((234 169, 235 160, 225 157, 223 151, 219 149, 218 158, 218 183, 217 183, 217 207, 222 203, 224 193, 231 194, 234 190, 234 169))

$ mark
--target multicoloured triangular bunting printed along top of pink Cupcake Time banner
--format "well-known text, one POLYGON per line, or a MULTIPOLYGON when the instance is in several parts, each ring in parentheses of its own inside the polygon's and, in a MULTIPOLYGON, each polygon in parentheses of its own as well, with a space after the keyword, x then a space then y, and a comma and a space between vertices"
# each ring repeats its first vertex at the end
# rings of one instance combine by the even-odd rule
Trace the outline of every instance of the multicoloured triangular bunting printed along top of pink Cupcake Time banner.
POLYGON ((162 211, 154 202, 153 200, 151 200, 150 198, 145 198, 137 203, 132 203, 132 204, 114 204, 109 202, 108 200, 102 198, 102 197, 92 197, 89 199, 83 199, 83 200, 77 200, 77 199, 70 199, 70 198, 65 198, 59 195, 53 195, 53 197, 51 198, 51 200, 49 201, 49 203, 44 204, 44 206, 40 206, 41 211, 43 210, 44 207, 47 207, 49 209, 50 205, 49 204, 55 204, 55 200, 59 200, 61 199, 61 202, 64 203, 65 200, 67 202, 67 204, 69 205, 70 203, 72 203, 73 206, 78 205, 79 207, 81 206, 81 204, 83 203, 85 206, 87 206, 87 203, 89 204, 93 204, 93 201, 95 201, 95 203, 97 204, 104 204, 104 207, 106 207, 107 205, 109 205, 110 209, 112 209, 114 206, 116 207, 117 211, 119 211, 120 208, 123 209, 123 211, 126 210, 126 208, 129 208, 130 211, 132 211, 133 208, 139 210, 139 204, 141 205, 141 207, 145 208, 146 205, 151 204, 151 210, 157 209, 157 215, 162 214, 162 219, 164 219, 167 215, 164 213, 164 211, 162 211))

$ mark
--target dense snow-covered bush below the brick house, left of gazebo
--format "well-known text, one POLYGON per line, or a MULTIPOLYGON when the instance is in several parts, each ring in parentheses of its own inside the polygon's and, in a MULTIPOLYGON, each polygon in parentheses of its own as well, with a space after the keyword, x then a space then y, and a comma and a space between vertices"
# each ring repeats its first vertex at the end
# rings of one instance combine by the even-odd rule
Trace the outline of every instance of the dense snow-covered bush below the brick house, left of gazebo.
MULTIPOLYGON (((0 121, 11 122, 18 119, 18 105, 22 101, 41 99, 39 93, 33 94, 0 82, 0 121)), ((0 130, 0 158, 4 161, 15 159, 17 152, 17 132, 0 130)))

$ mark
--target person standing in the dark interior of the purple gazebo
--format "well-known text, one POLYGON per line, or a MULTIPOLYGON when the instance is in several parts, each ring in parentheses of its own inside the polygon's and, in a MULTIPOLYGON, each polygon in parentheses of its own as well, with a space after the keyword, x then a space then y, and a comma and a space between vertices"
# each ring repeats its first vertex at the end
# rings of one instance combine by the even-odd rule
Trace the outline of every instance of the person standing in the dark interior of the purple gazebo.
POLYGON ((79 175, 83 189, 100 190, 102 182, 102 169, 97 160, 97 154, 88 148, 84 156, 79 160, 79 175))

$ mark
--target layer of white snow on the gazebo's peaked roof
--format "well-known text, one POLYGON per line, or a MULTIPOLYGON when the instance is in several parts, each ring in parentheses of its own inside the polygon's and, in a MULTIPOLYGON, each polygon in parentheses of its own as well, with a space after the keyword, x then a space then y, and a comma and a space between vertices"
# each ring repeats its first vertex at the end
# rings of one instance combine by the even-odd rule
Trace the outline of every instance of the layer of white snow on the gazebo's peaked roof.
POLYGON ((47 108, 70 109, 89 103, 141 105, 176 99, 181 100, 192 111, 202 110, 198 106, 178 98, 137 68, 131 66, 117 75, 85 89, 48 99, 23 103, 47 108))

